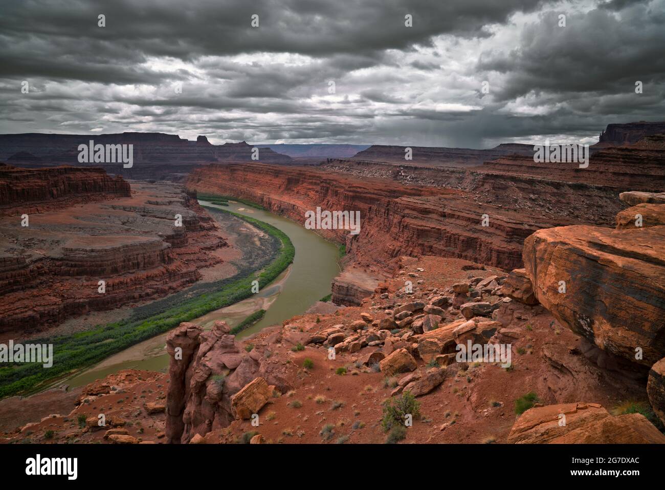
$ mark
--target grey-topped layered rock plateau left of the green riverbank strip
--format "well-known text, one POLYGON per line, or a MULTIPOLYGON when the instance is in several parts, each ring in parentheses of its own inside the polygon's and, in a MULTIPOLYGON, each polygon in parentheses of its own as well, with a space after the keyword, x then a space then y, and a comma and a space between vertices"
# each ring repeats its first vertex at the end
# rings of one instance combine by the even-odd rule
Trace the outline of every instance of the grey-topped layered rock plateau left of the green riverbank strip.
POLYGON ((176 292, 226 246, 196 198, 172 185, 132 182, 132 196, 29 213, 29 226, 21 208, 0 224, 3 337, 176 292))

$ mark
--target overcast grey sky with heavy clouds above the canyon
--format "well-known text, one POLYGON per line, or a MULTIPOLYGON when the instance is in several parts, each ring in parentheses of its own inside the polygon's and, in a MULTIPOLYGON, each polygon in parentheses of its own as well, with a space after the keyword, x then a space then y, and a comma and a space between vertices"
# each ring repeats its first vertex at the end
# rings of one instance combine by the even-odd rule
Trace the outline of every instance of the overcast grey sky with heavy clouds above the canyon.
POLYGON ((610 122, 665 120, 665 0, 3 0, 0 9, 1 133, 489 148, 593 143, 610 122))

